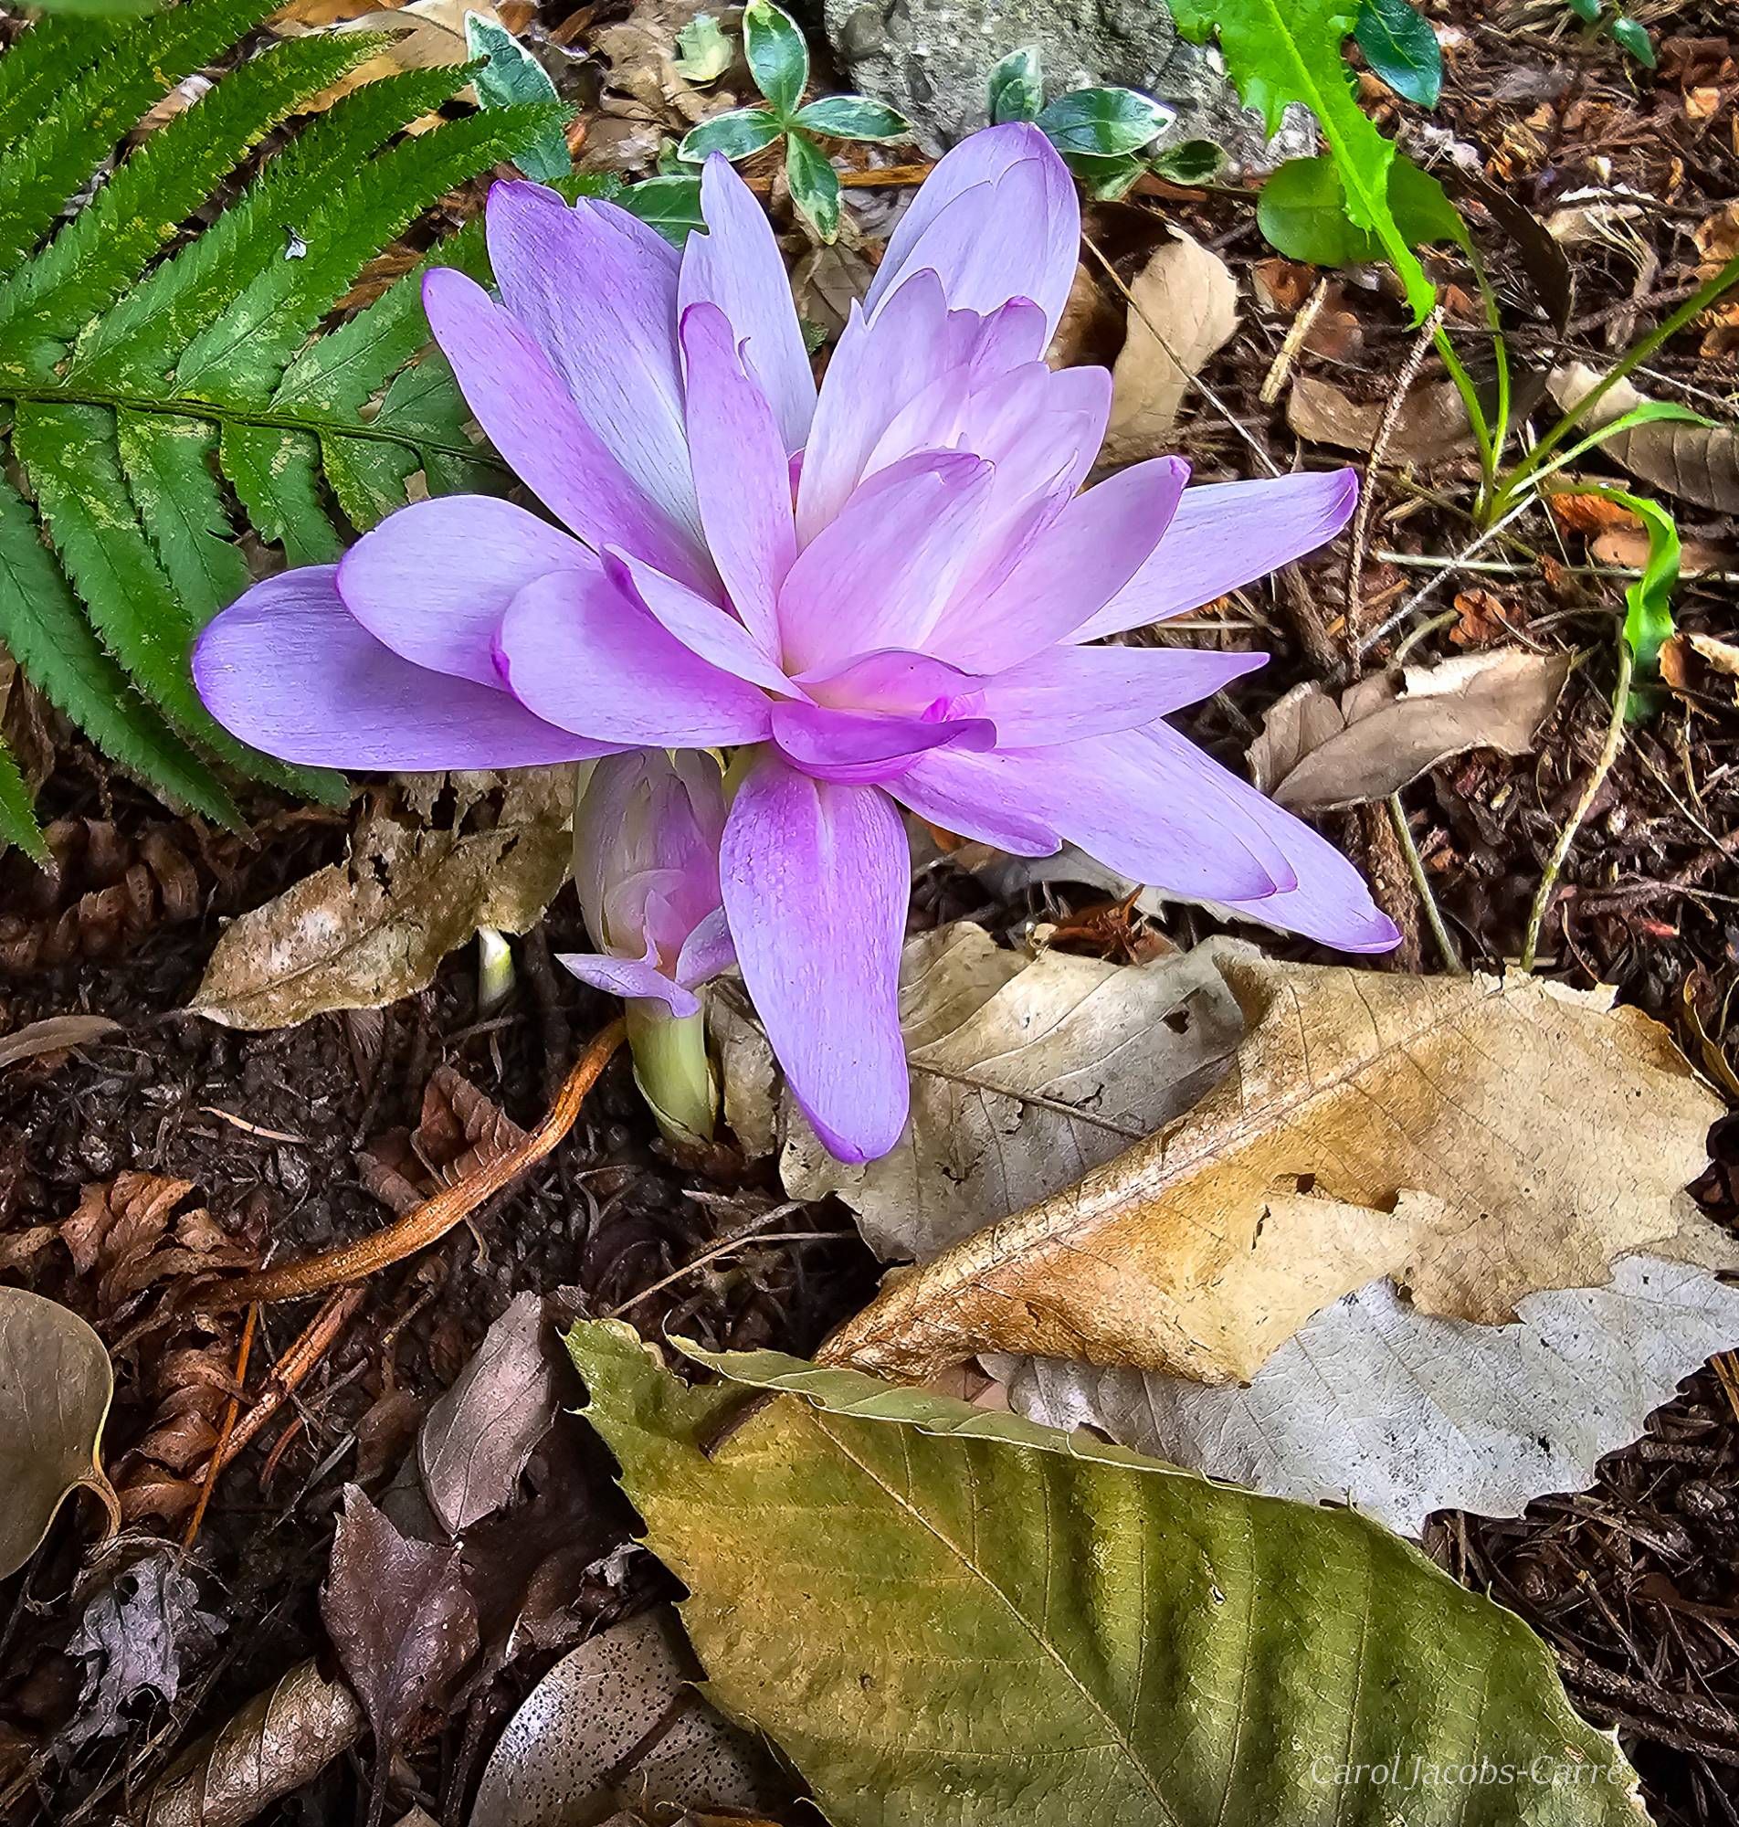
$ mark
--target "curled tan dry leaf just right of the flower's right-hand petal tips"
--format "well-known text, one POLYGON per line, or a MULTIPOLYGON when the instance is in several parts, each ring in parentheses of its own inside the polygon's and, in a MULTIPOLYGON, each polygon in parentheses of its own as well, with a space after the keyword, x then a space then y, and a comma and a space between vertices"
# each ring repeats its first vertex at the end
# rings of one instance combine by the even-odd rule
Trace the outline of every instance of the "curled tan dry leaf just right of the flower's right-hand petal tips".
POLYGON ((1291 811, 1399 793, 1467 749, 1525 755, 1569 678, 1571 654, 1498 647, 1436 667, 1375 672, 1335 702, 1315 680, 1262 716, 1255 784, 1291 811))

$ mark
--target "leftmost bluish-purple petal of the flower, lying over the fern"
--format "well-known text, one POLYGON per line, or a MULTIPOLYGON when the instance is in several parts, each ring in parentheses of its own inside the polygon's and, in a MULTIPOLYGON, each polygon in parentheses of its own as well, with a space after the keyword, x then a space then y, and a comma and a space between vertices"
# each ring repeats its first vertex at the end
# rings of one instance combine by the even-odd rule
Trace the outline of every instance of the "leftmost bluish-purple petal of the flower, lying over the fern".
POLYGON ((343 607, 336 565, 269 577, 223 610, 194 649, 194 683, 225 729, 283 762, 426 773, 610 753, 384 647, 343 607))

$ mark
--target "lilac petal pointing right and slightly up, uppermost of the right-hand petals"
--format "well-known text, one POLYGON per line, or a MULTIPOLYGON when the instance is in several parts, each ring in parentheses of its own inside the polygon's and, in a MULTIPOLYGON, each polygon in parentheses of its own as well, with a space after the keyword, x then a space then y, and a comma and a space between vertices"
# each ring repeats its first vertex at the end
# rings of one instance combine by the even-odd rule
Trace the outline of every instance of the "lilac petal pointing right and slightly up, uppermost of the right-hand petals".
POLYGON ((1266 577, 1333 539, 1357 502, 1354 470, 1184 490, 1153 557, 1072 638, 1144 628, 1266 577))

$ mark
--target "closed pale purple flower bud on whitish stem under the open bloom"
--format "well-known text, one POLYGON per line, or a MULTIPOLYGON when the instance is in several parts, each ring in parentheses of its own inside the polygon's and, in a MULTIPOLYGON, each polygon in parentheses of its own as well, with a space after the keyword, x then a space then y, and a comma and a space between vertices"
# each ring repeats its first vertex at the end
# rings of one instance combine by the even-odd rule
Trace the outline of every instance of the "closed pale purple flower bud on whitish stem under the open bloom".
POLYGON ((557 952, 621 996, 634 1074, 667 1135, 712 1136, 718 1083, 696 994, 734 963, 718 886, 725 786, 700 751, 634 749, 592 764, 574 809, 574 886, 599 952, 557 952))

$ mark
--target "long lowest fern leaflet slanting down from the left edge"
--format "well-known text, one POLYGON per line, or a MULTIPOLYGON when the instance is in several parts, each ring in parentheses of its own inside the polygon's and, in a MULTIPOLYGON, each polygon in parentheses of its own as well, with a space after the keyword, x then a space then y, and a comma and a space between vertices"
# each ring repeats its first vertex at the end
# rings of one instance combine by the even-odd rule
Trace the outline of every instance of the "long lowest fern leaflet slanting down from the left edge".
POLYGON ((133 691, 37 537, 24 497, 0 475, 0 641, 29 681, 119 766, 172 804, 217 824, 241 813, 212 771, 133 691))

